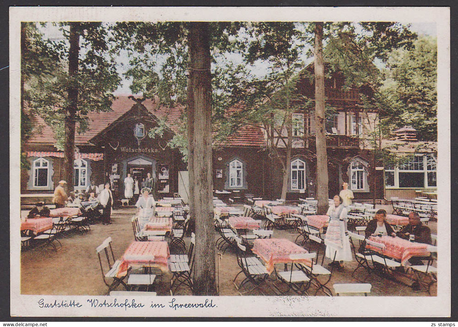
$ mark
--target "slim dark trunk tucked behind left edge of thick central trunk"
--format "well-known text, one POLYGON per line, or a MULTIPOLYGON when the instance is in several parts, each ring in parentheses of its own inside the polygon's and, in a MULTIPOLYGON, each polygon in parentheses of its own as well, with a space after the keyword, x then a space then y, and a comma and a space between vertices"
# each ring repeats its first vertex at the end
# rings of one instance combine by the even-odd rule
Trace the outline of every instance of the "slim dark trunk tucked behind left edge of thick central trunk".
MULTIPOLYGON (((191 54, 188 54, 188 71, 191 74, 191 54)), ((187 81, 186 100, 188 114, 188 182, 189 182, 189 216, 190 227, 196 232, 196 214, 194 213, 194 97, 191 76, 187 81)))

